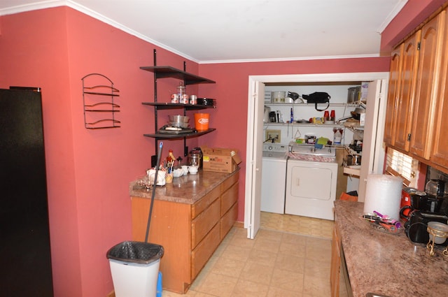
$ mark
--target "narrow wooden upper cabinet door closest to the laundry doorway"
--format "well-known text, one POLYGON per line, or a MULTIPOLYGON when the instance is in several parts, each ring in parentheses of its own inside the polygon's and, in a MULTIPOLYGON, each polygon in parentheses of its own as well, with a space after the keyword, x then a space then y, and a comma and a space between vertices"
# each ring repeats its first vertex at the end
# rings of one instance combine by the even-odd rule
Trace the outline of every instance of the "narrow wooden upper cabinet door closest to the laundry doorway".
POLYGON ((397 113, 397 96, 400 87, 400 71, 402 64, 402 52, 404 44, 393 50, 391 55, 391 73, 389 76, 386 119, 384 122, 384 142, 386 145, 393 145, 393 135, 395 134, 395 122, 393 119, 397 113))

